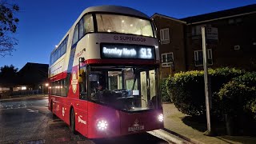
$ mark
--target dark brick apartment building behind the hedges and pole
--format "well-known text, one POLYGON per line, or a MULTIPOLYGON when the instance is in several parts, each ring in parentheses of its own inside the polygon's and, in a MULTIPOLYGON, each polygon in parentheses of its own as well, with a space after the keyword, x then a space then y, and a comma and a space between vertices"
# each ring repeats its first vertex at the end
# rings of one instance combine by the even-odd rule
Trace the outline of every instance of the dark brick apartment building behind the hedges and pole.
POLYGON ((188 18, 154 14, 158 27, 161 78, 174 72, 202 70, 202 26, 218 28, 218 41, 209 42, 209 67, 256 70, 256 5, 188 18))

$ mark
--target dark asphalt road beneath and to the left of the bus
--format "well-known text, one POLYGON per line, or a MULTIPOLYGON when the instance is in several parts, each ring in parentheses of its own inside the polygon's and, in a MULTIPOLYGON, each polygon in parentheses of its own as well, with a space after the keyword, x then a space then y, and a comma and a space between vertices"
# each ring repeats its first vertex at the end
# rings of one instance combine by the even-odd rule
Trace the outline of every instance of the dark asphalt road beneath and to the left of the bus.
MULTIPOLYGON (((163 138, 164 139, 164 138, 163 138)), ((88 139, 71 134, 69 126, 53 119, 47 99, 0 102, 0 143, 168 143, 149 133, 118 138, 88 139)))

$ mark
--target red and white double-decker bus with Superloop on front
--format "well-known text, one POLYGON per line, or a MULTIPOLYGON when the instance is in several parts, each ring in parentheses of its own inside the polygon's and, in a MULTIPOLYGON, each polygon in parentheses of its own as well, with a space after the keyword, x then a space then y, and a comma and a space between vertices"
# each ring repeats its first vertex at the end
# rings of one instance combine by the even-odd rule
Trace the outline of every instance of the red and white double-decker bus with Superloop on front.
POLYGON ((138 10, 84 10, 50 55, 49 110, 87 138, 161 129, 154 32, 138 10))

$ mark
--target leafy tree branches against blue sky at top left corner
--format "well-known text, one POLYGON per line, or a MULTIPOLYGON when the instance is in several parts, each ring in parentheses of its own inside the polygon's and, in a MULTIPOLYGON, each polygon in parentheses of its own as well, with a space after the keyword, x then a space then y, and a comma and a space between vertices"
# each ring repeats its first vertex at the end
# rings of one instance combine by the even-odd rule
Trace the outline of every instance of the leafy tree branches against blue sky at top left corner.
POLYGON ((2 57, 10 55, 15 50, 14 46, 18 44, 18 41, 13 37, 19 22, 14 14, 18 11, 18 5, 0 0, 0 55, 2 57))

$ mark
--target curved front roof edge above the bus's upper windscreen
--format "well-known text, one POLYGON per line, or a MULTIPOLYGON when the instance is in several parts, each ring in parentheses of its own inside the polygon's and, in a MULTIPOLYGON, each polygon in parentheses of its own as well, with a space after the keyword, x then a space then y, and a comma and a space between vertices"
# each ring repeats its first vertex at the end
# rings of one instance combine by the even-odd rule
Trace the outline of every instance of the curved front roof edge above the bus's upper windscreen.
POLYGON ((125 6, 91 6, 91 7, 88 7, 86 10, 84 10, 82 12, 82 15, 86 13, 91 13, 91 12, 110 12, 110 13, 118 13, 118 14, 128 14, 128 15, 138 16, 141 18, 150 19, 150 17, 147 16, 146 14, 125 6))

